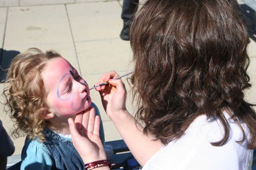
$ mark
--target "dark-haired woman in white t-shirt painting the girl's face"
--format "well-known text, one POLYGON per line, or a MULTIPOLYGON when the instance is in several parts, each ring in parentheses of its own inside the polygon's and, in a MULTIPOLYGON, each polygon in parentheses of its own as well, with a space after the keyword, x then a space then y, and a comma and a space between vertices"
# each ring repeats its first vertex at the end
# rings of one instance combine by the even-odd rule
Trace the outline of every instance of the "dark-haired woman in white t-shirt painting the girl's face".
MULTIPOLYGON (((144 127, 126 110, 114 71, 97 83, 110 85, 96 90, 143 170, 250 169, 256 114, 244 99, 251 87, 248 33, 236 0, 143 1, 130 43, 136 118, 144 127)), ((87 152, 72 140, 81 155, 87 152)))

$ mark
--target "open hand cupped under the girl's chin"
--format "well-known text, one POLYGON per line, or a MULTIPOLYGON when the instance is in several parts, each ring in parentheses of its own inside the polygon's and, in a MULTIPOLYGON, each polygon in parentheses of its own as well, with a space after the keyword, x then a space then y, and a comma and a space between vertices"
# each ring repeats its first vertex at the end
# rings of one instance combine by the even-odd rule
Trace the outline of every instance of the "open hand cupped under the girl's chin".
POLYGON ((96 160, 106 160, 104 146, 100 140, 100 117, 95 117, 94 107, 78 113, 75 121, 68 119, 74 147, 84 164, 96 160))

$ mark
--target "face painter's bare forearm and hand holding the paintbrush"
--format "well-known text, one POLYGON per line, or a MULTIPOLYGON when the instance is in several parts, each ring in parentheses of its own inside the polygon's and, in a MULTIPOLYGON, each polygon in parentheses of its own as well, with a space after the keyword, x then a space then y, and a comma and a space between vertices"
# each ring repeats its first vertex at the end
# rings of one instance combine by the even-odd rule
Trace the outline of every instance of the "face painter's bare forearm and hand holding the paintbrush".
POLYGON ((160 150, 160 140, 154 141, 154 136, 143 134, 143 127, 135 121, 134 117, 126 110, 126 89, 121 79, 114 80, 119 75, 115 71, 104 74, 98 84, 108 82, 109 85, 97 87, 100 92, 103 107, 114 123, 124 142, 141 166, 160 150))

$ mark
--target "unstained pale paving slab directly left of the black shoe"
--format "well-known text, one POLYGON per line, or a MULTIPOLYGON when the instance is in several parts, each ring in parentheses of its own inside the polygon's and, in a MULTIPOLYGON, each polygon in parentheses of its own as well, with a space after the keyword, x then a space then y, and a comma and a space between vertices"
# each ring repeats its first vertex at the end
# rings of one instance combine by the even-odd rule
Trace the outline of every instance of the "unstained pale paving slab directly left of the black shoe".
POLYGON ((117 1, 67 4, 74 42, 120 39, 122 8, 117 1))

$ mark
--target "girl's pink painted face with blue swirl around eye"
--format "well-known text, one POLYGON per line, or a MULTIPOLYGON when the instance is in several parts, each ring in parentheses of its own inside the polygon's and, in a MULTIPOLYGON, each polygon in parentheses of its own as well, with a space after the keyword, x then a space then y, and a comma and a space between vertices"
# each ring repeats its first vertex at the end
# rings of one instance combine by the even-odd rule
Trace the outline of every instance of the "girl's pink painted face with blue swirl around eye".
POLYGON ((48 61, 43 79, 48 92, 46 101, 55 115, 72 116, 90 107, 88 84, 63 57, 48 61))

